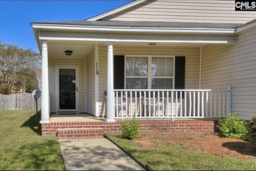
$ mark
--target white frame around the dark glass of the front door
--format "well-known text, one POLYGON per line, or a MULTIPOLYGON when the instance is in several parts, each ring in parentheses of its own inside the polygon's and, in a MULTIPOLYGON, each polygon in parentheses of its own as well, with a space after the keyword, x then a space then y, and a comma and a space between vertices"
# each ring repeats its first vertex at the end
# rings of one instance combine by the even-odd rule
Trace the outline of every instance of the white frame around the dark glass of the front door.
POLYGON ((56 113, 79 113, 79 66, 78 65, 56 65, 55 66, 55 81, 56 81, 56 113), (76 69, 76 109, 61 109, 60 110, 60 83, 59 83, 59 69, 76 69))

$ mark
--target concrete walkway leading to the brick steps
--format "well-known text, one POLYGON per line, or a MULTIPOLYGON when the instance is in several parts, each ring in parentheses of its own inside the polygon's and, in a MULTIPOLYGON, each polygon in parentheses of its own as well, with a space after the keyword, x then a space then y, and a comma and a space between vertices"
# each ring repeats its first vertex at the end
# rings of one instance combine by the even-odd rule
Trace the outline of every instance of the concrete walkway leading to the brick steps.
POLYGON ((144 171, 142 167, 109 140, 59 140, 67 170, 144 171))

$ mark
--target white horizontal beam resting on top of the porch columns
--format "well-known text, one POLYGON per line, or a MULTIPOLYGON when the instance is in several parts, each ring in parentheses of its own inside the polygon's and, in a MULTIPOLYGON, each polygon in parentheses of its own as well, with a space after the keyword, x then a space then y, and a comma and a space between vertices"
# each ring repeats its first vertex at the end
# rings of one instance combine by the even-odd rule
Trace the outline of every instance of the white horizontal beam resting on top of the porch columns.
MULTIPOLYGON (((40 31, 41 40, 77 40, 100 42, 137 43, 236 43, 235 35, 196 34, 127 34, 96 32, 40 31)), ((85 42, 86 43, 86 42, 85 42)))

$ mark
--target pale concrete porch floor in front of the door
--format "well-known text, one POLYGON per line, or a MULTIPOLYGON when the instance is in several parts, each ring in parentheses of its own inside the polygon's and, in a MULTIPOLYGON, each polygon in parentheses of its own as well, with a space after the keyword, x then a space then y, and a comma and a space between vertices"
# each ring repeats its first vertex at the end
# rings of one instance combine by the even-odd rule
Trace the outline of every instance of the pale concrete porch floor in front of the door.
POLYGON ((91 114, 51 114, 50 122, 105 122, 103 117, 91 114))

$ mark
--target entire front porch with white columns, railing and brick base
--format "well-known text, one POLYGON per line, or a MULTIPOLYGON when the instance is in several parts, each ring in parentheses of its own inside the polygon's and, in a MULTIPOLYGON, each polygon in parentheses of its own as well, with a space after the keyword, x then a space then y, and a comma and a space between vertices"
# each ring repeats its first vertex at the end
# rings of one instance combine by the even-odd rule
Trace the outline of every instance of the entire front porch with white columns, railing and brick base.
POLYGON ((133 117, 143 130, 213 131, 216 120, 231 112, 231 86, 201 87, 203 47, 230 46, 231 35, 218 40, 211 35, 208 41, 204 36, 197 43, 64 41, 48 31, 40 35, 43 135, 103 135, 120 131, 121 120, 133 117))

